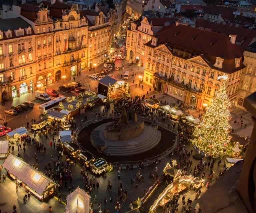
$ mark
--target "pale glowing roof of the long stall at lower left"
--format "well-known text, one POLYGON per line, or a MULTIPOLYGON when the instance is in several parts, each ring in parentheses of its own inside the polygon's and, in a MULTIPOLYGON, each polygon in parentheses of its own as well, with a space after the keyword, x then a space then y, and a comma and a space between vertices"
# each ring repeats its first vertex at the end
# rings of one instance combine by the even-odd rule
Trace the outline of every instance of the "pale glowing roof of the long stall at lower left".
POLYGON ((13 154, 9 154, 3 163, 3 167, 18 179, 23 181, 31 189, 42 195, 44 190, 53 181, 47 176, 39 173, 32 166, 13 154))

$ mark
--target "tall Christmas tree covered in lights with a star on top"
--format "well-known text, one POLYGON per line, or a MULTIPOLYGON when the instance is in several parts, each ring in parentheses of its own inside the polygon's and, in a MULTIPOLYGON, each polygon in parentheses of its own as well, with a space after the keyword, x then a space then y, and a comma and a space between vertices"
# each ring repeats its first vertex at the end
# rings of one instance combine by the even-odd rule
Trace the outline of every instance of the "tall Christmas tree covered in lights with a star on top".
POLYGON ((211 154, 213 157, 223 157, 231 150, 230 102, 225 87, 228 78, 221 76, 218 79, 223 79, 222 84, 212 104, 206 108, 202 121, 196 126, 192 139, 192 143, 199 148, 199 153, 202 150, 205 155, 211 154))

